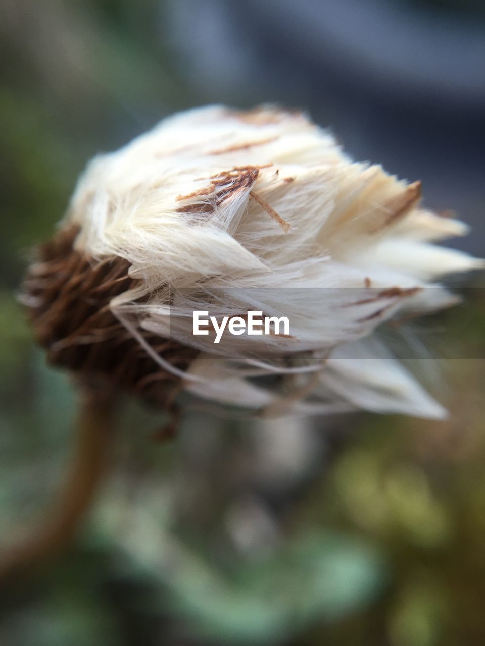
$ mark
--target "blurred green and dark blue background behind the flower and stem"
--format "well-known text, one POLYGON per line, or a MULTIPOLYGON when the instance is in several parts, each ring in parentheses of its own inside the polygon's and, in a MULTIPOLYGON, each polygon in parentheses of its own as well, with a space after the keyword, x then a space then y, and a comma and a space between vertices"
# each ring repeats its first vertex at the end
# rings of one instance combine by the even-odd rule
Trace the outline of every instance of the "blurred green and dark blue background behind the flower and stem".
MULTIPOLYGON (((481 0, 0 0, 0 38, 0 547, 69 459, 72 385, 16 289, 96 152, 195 105, 301 107, 485 256, 481 0)), ((433 322, 461 342, 439 379, 416 366, 446 422, 188 413, 155 443, 162 415, 127 402, 75 545, 0 595, 0 643, 484 644, 483 286, 433 322)))

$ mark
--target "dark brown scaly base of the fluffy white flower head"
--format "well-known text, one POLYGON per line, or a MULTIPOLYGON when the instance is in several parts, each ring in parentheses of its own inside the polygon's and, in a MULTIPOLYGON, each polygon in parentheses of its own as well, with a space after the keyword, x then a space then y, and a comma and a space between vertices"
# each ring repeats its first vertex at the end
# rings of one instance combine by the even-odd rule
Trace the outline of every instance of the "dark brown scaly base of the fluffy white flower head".
MULTIPOLYGON (((39 247, 23 284, 37 340, 51 364, 81 378, 107 379, 149 402, 166 406, 180 379, 162 370, 114 316, 112 298, 138 286, 129 262, 96 261, 73 248, 71 225, 39 247)), ((154 351, 180 370, 197 355, 193 348, 140 330, 154 351)))

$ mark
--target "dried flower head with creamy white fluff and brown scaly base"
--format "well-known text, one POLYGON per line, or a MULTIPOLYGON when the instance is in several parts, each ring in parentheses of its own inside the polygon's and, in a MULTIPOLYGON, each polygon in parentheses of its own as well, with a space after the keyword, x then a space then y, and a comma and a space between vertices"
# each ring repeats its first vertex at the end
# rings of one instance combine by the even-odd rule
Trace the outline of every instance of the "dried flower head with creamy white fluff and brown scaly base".
POLYGON ((302 114, 190 110, 89 163, 25 302, 51 362, 162 405, 186 390, 275 414, 442 417, 371 336, 451 304, 439 276, 483 266, 434 245, 466 226, 419 202, 419 182, 354 163, 302 114), (291 333, 214 344, 194 311, 284 315, 291 333))

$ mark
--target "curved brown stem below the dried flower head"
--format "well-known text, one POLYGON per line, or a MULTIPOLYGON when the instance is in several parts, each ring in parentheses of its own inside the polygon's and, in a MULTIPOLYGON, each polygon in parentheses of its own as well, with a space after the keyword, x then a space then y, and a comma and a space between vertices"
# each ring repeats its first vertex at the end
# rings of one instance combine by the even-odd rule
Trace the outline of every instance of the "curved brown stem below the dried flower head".
POLYGON ((113 419, 113 392, 83 387, 76 446, 58 501, 30 536, 0 555, 0 583, 41 565, 69 546, 105 474, 113 419))

